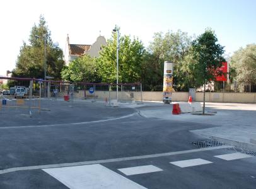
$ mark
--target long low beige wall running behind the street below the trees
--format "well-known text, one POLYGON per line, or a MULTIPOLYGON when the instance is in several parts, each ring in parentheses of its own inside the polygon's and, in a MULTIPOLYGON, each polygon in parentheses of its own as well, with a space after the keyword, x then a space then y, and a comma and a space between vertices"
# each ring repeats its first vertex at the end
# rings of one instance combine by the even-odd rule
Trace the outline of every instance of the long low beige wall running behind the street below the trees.
MULTIPOLYGON (((67 93, 59 93, 58 96, 67 95, 67 93)), ((116 91, 96 91, 95 96, 98 99, 107 100, 116 99, 117 92, 116 91)), ((150 92, 143 91, 143 100, 144 101, 162 101, 163 93, 160 92, 150 92)), ((78 91, 78 93, 74 93, 75 98, 84 98, 84 91, 78 91)), ((94 95, 91 95, 86 91, 86 98, 94 98, 94 95)), ((120 92, 119 91, 119 99, 121 100, 141 100, 141 92, 120 92)), ((195 93, 195 101, 203 101, 204 93, 197 92, 195 93)), ((172 93, 172 101, 188 101, 189 93, 188 92, 173 92, 172 93)), ((206 93, 206 101, 207 102, 226 102, 226 103, 256 103, 256 93, 206 93)))

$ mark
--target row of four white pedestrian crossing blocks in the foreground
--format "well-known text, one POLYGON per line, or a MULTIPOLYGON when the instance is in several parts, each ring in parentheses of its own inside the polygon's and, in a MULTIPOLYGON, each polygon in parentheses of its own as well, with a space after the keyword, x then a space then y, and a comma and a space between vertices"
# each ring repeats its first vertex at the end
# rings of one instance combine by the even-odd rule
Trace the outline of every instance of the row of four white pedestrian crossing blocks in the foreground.
MULTIPOLYGON (((223 159, 231 161, 252 157, 240 152, 231 154, 222 154, 213 156, 213 159, 223 159)), ((181 161, 170 162, 172 166, 185 169, 191 166, 203 166, 204 164, 214 164, 214 161, 207 159, 183 159, 181 161)), ((172 167, 171 167, 172 168, 172 167)), ((125 176, 143 175, 147 173, 164 172, 165 169, 158 168, 153 164, 143 166, 132 166, 126 168, 108 169, 102 164, 88 164, 82 166, 71 166, 62 168, 42 169, 45 173, 53 176, 56 180, 61 181, 68 188, 145 188, 142 185, 126 178, 125 176), (125 176, 123 176, 124 174, 125 176)))

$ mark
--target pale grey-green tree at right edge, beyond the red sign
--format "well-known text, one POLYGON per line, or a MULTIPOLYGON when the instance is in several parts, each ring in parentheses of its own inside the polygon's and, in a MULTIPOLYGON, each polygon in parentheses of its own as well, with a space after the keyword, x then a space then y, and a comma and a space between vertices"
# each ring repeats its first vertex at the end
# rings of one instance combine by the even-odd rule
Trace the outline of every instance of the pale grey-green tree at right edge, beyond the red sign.
POLYGON ((256 45, 237 50, 231 57, 231 68, 238 84, 256 84, 256 45))

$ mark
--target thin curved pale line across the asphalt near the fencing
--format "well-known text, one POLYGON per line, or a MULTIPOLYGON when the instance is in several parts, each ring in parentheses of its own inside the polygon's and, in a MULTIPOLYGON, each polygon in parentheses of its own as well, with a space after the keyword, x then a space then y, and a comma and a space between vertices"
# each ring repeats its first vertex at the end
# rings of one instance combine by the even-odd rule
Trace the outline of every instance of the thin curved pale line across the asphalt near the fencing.
POLYGON ((77 123, 59 123, 59 124, 50 124, 50 125, 27 125, 27 126, 10 126, 10 127, 0 127, 0 129, 24 129, 24 128, 37 128, 37 127, 59 127, 59 126, 71 126, 71 125, 83 125, 83 124, 90 124, 90 123, 100 123, 100 122, 109 122, 113 120, 120 120, 123 118, 132 117, 134 115, 138 115, 137 112, 131 113, 129 115, 124 115, 118 118, 109 118, 105 120, 96 120, 91 122, 77 122, 77 123))

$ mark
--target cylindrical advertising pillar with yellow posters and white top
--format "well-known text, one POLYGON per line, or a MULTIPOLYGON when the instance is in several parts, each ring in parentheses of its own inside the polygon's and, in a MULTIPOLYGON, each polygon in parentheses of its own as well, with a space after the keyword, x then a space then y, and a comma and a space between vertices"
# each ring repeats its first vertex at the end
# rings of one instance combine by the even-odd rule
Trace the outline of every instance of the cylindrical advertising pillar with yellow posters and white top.
POLYGON ((173 63, 165 61, 163 72, 163 102, 172 103, 173 63))

